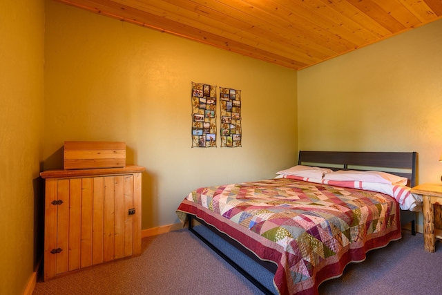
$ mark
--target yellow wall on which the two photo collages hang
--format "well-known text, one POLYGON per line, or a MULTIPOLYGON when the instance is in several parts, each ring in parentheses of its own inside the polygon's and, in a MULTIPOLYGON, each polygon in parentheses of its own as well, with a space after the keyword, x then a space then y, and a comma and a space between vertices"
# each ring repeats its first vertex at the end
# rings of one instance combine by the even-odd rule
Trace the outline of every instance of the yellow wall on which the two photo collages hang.
MULTIPOLYGON (((61 3, 46 3, 45 169, 65 140, 124 141, 143 173, 142 228, 178 222, 204 184, 295 164, 296 71, 61 3), (242 91, 242 147, 191 148, 191 82, 242 91)), ((218 118, 219 126, 219 118, 218 118)))

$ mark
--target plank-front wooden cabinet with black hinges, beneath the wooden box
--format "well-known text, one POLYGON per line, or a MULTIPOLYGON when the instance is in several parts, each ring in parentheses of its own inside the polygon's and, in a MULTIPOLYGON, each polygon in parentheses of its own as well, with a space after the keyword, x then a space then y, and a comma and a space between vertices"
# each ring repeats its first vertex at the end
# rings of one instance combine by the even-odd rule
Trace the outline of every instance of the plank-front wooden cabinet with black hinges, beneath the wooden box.
POLYGON ((144 167, 52 170, 45 179, 44 280, 141 254, 144 167))

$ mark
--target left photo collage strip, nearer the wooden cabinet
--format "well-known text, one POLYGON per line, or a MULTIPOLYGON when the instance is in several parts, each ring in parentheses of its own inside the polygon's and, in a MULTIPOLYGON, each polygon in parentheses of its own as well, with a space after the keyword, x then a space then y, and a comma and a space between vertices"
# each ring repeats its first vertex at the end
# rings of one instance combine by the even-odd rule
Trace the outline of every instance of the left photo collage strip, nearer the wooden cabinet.
POLYGON ((192 82, 192 147, 216 147, 216 86, 192 82))

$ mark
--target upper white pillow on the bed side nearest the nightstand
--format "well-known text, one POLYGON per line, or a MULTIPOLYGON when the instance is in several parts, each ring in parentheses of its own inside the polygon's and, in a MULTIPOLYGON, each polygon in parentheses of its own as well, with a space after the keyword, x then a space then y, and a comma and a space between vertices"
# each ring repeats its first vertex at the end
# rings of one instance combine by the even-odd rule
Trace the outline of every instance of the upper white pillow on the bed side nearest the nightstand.
POLYGON ((407 178, 381 171, 339 170, 327 173, 324 180, 379 182, 396 185, 407 185, 407 178))

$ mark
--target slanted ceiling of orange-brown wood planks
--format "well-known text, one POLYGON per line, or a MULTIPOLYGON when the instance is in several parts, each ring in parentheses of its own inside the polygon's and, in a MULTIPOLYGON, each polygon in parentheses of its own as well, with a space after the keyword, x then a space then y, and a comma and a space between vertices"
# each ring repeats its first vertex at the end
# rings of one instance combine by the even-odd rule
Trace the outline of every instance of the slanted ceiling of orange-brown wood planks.
POLYGON ((442 0, 57 0, 300 70, 442 18, 442 0))

